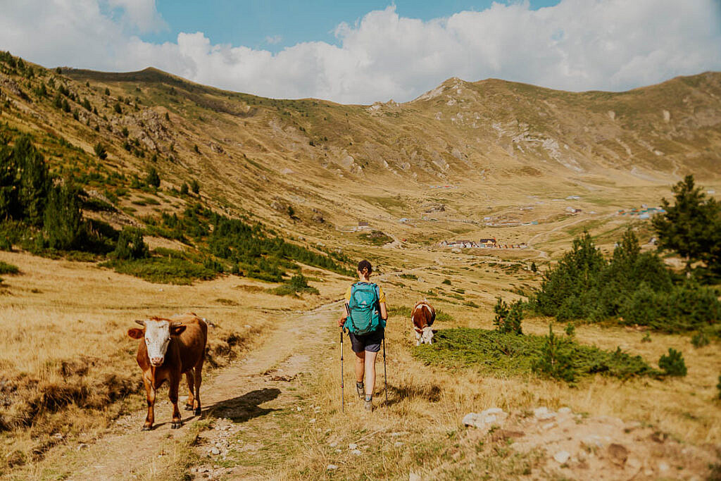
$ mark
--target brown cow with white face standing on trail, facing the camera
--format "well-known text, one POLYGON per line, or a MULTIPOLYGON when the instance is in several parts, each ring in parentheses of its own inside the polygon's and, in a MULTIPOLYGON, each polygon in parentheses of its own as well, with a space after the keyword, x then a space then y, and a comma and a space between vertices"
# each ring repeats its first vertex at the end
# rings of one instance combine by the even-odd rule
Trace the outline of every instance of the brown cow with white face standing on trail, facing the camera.
POLYGON ((133 339, 142 339, 138 343, 138 366, 143 370, 143 384, 148 398, 148 416, 143 431, 153 428, 155 418, 155 392, 164 381, 169 384, 169 398, 173 403, 173 421, 171 428, 180 428, 178 410, 178 385, 185 374, 190 389, 186 410, 195 410, 200 414, 200 381, 202 381, 203 361, 205 361, 205 342, 208 340, 208 325, 195 314, 182 314, 172 319, 151 317, 136 321, 142 329, 133 327, 128 335, 133 339), (143 339, 144 337, 144 339, 143 339))

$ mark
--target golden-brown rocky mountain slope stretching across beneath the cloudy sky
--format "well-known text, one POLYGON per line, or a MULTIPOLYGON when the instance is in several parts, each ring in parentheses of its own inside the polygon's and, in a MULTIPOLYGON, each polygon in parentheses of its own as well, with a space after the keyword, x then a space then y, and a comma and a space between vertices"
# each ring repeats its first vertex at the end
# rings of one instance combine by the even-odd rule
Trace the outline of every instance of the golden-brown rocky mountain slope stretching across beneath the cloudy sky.
MULTIPOLYGON (((618 198, 627 187, 721 172, 715 72, 619 93, 448 79, 411 102, 370 106, 265 99, 156 69, 50 71, 9 54, 0 72, 5 128, 64 139, 84 154, 75 169, 107 177, 155 167, 166 187, 198 180, 227 213, 317 239, 359 219, 405 236, 399 218, 443 210, 478 222, 528 195, 583 188, 618 198)), ((69 168, 67 155, 48 153, 69 168)), ((136 220, 172 211, 139 208, 125 187, 117 203, 136 220)))

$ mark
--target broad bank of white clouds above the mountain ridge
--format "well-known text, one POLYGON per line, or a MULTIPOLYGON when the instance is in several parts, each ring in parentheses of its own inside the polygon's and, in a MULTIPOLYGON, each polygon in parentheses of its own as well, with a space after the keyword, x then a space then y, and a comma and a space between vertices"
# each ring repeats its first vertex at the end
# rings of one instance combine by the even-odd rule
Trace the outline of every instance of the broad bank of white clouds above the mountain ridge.
POLYGON ((0 48, 47 66, 156 66, 240 92, 352 103, 410 100, 451 76, 578 91, 721 70, 717 0, 562 0, 535 11, 528 2, 492 4, 428 22, 399 17, 389 6, 338 25, 340 45, 298 43, 275 54, 214 45, 203 32, 147 43, 134 34, 162 27, 153 0, 107 0, 122 9, 120 19, 104 14, 99 1, 6 6, 0 48))

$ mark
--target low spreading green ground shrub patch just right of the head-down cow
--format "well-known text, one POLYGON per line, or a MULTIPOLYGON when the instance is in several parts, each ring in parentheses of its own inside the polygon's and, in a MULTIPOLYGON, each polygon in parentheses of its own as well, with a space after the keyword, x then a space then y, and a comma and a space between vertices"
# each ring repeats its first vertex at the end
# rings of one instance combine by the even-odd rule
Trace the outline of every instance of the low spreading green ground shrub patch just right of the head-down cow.
MULTIPOLYGON (((515 335, 458 327, 436 332, 432 345, 415 348, 413 356, 448 369, 474 367, 482 372, 503 376, 530 374, 542 356, 546 336, 515 335)), ((579 376, 600 373, 626 379, 632 376, 658 376, 641 356, 617 349, 602 350, 564 339, 570 351, 572 367, 579 376)))

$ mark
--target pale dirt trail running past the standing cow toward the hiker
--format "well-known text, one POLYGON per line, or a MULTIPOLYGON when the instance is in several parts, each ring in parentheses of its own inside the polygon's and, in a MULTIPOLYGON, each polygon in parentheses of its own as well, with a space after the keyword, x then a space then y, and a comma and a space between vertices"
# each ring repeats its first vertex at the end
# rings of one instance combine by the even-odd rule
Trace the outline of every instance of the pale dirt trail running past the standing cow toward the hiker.
MULTIPOLYGON (((288 388, 301 371, 311 369, 311 354, 330 342, 328 327, 337 315, 338 306, 340 303, 334 302, 311 312, 288 313, 288 319, 276 325, 265 343, 247 353, 242 361, 216 371, 210 381, 203 383, 200 390, 203 414, 190 416, 190 412, 181 411, 184 416, 181 429, 170 428, 171 405, 167 401, 167 388, 161 388, 158 397, 162 402, 156 402, 153 431, 140 431, 146 415, 144 409, 121 418, 106 436, 66 466, 73 473, 69 479, 153 477, 158 459, 172 456, 169 452, 173 449, 172 441, 187 436, 199 419, 221 415, 249 420, 268 411, 260 407, 265 402, 293 402, 296 398, 288 388)), ((186 389, 182 384, 181 406, 186 389)))

